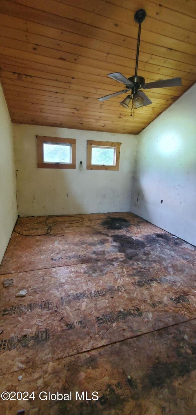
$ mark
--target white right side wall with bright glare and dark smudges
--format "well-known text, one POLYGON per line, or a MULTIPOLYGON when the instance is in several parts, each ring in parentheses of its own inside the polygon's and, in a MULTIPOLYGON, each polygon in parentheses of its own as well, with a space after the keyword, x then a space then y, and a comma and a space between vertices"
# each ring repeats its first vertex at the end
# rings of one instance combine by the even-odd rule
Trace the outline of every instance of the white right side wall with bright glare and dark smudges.
POLYGON ((139 134, 131 210, 196 245, 196 85, 139 134))

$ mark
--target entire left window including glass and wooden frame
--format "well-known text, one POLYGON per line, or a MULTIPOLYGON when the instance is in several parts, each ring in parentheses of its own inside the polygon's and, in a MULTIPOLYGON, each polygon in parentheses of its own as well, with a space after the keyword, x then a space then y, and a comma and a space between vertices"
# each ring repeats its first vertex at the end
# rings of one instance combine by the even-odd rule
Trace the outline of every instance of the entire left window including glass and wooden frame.
POLYGON ((75 168, 76 140, 58 137, 37 137, 39 168, 75 168))

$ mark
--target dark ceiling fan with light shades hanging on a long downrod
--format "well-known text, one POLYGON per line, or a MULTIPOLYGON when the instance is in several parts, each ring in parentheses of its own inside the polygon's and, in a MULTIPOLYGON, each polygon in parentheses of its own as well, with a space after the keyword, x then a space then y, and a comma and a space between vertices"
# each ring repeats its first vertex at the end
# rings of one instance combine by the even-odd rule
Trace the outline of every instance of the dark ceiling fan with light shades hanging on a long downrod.
POLYGON ((147 95, 145 95, 143 91, 141 91, 141 89, 167 88, 170 86, 181 85, 181 78, 171 78, 164 79, 162 81, 145 83, 145 79, 142 76, 138 76, 138 57, 140 49, 141 24, 144 21, 145 17, 146 12, 143 9, 138 10, 134 17, 135 22, 139 24, 135 75, 130 76, 130 78, 126 78, 126 76, 122 75, 122 73, 120 72, 108 73, 108 76, 110 78, 113 78, 116 81, 123 83, 126 86, 126 89, 123 89, 119 92, 115 92, 114 94, 106 95, 102 98, 98 98, 99 101, 109 100, 110 98, 117 97, 118 95, 123 94, 125 92, 129 92, 131 90, 131 94, 127 95, 126 98, 122 102, 120 102, 120 105, 122 105, 122 107, 124 108, 128 108, 128 105, 132 100, 132 107, 136 109, 152 104, 152 101, 148 98, 147 95))

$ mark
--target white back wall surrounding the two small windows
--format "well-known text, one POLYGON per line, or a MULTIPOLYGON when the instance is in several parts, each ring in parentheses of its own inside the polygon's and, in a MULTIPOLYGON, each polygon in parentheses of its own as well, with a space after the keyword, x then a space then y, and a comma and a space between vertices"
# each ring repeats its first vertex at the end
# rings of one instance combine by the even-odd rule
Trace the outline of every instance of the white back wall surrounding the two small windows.
POLYGON ((137 136, 19 124, 13 131, 20 215, 130 211, 137 136), (36 135, 75 138, 76 170, 37 168, 36 135), (87 140, 121 142, 119 171, 86 170, 87 140))

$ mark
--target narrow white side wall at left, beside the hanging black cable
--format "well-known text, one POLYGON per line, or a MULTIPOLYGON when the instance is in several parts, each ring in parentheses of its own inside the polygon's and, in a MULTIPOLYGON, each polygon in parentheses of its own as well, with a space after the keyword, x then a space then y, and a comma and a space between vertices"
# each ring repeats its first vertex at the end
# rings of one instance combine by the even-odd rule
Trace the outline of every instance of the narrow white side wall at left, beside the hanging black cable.
POLYGON ((0 263, 16 219, 12 122, 0 84, 0 263))

